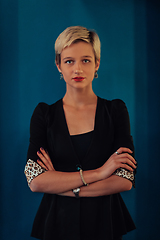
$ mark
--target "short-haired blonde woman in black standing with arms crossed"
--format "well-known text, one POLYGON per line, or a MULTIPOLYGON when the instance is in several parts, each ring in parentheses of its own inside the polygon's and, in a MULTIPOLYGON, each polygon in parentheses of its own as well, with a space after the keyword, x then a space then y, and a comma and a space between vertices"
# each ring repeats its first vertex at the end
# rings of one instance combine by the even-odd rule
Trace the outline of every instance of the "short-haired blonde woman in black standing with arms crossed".
POLYGON ((44 196, 32 236, 39 239, 122 239, 135 225, 120 196, 134 184, 136 161, 129 117, 121 100, 97 97, 100 65, 94 31, 69 27, 55 42, 66 94, 40 103, 32 116, 25 174, 44 196))

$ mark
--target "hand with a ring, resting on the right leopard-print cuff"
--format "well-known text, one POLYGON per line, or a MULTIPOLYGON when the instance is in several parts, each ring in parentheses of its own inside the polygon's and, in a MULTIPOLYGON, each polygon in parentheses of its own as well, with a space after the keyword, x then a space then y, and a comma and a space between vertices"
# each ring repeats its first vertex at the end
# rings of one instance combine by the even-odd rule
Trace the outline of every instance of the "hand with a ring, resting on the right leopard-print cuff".
POLYGON ((116 169, 122 167, 133 172, 136 169, 136 160, 130 155, 129 148, 121 147, 113 153, 105 164, 99 168, 102 179, 110 177, 116 169))

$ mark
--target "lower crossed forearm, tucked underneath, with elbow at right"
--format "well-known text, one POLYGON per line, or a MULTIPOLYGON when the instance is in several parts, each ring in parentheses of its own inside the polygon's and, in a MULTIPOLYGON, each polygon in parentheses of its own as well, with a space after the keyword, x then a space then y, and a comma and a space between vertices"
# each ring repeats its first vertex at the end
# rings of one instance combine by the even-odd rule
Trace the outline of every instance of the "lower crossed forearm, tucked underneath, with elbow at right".
MULTIPOLYGON (((89 186, 82 186, 80 189, 80 197, 99 197, 104 195, 111 195, 124 191, 129 191, 132 188, 131 181, 118 177, 111 176, 107 179, 91 183, 89 186)), ((62 193, 64 196, 74 197, 72 191, 62 193)))

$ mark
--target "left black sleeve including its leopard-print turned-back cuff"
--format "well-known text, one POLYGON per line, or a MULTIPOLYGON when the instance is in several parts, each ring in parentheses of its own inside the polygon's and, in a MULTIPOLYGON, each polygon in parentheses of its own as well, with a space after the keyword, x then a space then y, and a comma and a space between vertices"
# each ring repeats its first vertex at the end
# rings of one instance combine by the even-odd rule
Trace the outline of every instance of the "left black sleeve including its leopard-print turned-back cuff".
POLYGON ((39 103, 31 117, 30 143, 24 170, 28 185, 35 177, 46 171, 37 163, 37 151, 39 151, 40 147, 47 149, 47 125, 45 121, 47 108, 47 104, 39 103))

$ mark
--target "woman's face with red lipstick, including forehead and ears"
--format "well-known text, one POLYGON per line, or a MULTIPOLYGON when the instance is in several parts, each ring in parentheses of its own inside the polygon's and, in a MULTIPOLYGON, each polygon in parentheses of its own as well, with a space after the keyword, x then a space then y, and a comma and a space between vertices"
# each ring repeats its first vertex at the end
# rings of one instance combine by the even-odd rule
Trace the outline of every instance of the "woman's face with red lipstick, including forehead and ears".
POLYGON ((61 65, 57 65, 57 68, 63 74, 67 88, 85 88, 92 87, 99 62, 95 63, 91 44, 78 42, 63 49, 61 65))

